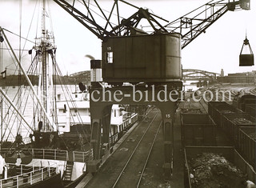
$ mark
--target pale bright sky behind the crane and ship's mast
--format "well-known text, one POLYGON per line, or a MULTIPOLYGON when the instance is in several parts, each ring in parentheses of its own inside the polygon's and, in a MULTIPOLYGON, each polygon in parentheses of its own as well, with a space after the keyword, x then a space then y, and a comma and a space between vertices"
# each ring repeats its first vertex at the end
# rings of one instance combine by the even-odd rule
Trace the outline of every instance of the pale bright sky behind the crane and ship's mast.
MULTIPOLYGON (((38 0, 0 0, 0 12, 2 14, 0 17, 0 26, 15 34, 19 34, 20 23, 22 23, 22 36, 25 38, 28 36, 30 40, 34 41, 36 28, 41 24, 38 21, 38 15, 41 13, 37 2, 38 0), (30 23, 32 23, 31 26, 30 23)), ((110 5, 114 1, 99 0, 98 2, 104 9, 110 10, 110 5)), ((169 21, 173 21, 183 14, 190 12, 190 10, 194 10, 198 6, 210 1, 126 0, 126 2, 130 2, 138 7, 148 8, 150 12, 169 21)), ((78 71, 90 70, 90 58, 87 58, 86 54, 90 54, 96 59, 101 59, 101 40, 71 17, 70 14, 66 13, 65 10, 62 10, 55 2, 50 1, 49 7, 55 44, 57 46, 56 58, 58 65, 61 67, 62 74, 73 74, 78 71)), ((205 34, 201 34, 186 46, 182 50, 182 67, 184 69, 207 70, 216 73, 220 73, 221 69, 223 69, 225 75, 256 70, 255 66, 238 66, 239 54, 246 34, 252 50, 256 53, 255 1, 251 1, 250 8, 251 10, 228 11, 217 22, 214 22, 206 30, 205 34)), ((136 11, 120 7, 120 13, 125 18, 134 14, 136 11)), ((6 34, 12 46, 18 49, 18 37, 7 32, 6 34)), ((24 41, 22 41, 22 47, 23 45, 24 41)), ((30 50, 32 47, 33 44, 31 42, 26 42, 26 50, 30 50)), ((18 54, 18 51, 16 52, 18 54)), ((11 74, 12 69, 14 69, 14 62, 7 53, 7 50, 4 50, 3 56, 4 61, 1 68, 3 70, 7 67, 7 74, 11 74)), ((27 54, 27 51, 24 51, 22 54, 22 65, 28 67, 29 63, 30 55, 27 54)))

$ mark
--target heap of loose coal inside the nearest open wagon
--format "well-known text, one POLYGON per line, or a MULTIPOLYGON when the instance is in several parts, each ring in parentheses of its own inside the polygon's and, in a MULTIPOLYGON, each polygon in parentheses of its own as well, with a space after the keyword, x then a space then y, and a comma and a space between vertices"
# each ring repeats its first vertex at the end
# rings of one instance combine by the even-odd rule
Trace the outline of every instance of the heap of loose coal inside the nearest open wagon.
POLYGON ((226 158, 203 153, 188 161, 193 188, 240 188, 245 174, 226 158))

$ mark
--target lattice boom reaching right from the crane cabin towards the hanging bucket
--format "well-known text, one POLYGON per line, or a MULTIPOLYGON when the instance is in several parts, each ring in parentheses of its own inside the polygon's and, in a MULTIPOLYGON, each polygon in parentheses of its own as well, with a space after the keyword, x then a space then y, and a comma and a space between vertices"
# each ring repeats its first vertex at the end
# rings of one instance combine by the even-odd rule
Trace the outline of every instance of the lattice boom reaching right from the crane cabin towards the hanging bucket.
MULTIPOLYGON (((249 2, 249 1, 247 1, 249 2)), ((211 1, 198 7, 188 14, 168 23, 165 27, 169 32, 178 32, 182 34, 182 49, 200 34, 205 33, 206 29, 214 22, 226 14, 227 11, 250 10, 250 3, 245 1, 226 2, 211 1)))

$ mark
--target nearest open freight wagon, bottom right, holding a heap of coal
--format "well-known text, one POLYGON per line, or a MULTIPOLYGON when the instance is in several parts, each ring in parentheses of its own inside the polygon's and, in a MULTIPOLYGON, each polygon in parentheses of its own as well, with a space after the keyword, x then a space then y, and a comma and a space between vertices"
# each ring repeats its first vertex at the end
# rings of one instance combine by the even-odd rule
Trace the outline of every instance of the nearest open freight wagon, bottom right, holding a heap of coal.
MULTIPOLYGON (((238 151, 234 149, 234 147, 226 146, 226 147, 217 147, 217 146, 186 146, 184 149, 184 154, 185 154, 185 169, 184 169, 184 187, 186 188, 192 188, 195 187, 193 186, 194 184, 194 178, 193 173, 194 173, 194 168, 199 167, 200 164, 192 164, 194 168, 191 168, 190 161, 194 158, 198 158, 199 155, 201 154, 218 154, 219 156, 224 157, 225 159, 222 159, 222 162, 231 162, 234 164, 235 167, 237 167, 239 170, 242 170, 242 173, 245 174, 244 179, 245 180, 250 180, 252 182, 255 182, 256 178, 256 173, 252 166, 246 162, 244 158, 240 154, 238 154, 238 151)), ((210 162, 211 164, 214 163, 214 161, 210 162)), ((216 162, 215 162, 216 163, 216 162)), ((209 176, 214 175, 214 178, 216 178, 216 181, 218 182, 218 179, 223 180, 224 182, 229 182, 230 187, 243 187, 241 184, 241 179, 243 178, 230 178, 231 174, 227 174, 226 170, 217 170, 214 169, 214 167, 217 166, 212 166, 212 168, 209 169, 210 174, 199 174, 201 176, 206 175, 206 181, 209 181, 210 178, 209 176), (225 175, 225 177, 224 177, 225 175), (228 179, 227 179, 228 178, 228 179), (240 185, 240 186, 238 186, 240 185)), ((220 183, 220 181, 218 182, 220 183)), ((214 185, 216 186, 216 185, 214 185)), ((202 186, 200 186, 202 187, 202 186)))

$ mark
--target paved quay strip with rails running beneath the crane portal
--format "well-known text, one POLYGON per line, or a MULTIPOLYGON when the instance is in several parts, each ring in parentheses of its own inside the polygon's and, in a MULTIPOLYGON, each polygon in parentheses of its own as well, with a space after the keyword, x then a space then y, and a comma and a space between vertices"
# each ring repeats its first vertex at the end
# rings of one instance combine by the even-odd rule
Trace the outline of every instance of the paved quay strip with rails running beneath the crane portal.
POLYGON ((114 150, 114 153, 111 154, 85 187, 134 188, 139 186, 141 182, 143 184, 145 179, 148 181, 145 171, 147 171, 147 167, 151 168, 151 159, 154 158, 154 152, 158 150, 154 145, 159 144, 158 133, 162 131, 160 129, 161 124, 160 110, 154 107, 150 108, 146 117, 139 122, 127 138, 119 143, 118 149, 114 150))

